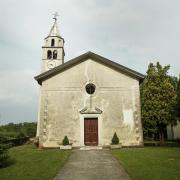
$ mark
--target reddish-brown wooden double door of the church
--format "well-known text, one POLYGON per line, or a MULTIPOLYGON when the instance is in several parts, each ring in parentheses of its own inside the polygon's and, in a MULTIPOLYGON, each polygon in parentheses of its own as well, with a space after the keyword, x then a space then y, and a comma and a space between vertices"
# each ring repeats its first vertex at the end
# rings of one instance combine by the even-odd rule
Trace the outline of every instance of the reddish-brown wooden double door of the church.
POLYGON ((98 119, 84 119, 84 144, 88 146, 98 145, 98 119))

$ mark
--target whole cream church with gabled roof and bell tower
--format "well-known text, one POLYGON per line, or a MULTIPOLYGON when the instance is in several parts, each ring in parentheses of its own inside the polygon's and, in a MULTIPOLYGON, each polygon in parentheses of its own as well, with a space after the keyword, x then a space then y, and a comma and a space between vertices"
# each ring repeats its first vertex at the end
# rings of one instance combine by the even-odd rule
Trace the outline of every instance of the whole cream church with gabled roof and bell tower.
POLYGON ((139 85, 144 75, 93 52, 64 62, 57 18, 44 40, 37 137, 39 147, 143 146, 139 85))

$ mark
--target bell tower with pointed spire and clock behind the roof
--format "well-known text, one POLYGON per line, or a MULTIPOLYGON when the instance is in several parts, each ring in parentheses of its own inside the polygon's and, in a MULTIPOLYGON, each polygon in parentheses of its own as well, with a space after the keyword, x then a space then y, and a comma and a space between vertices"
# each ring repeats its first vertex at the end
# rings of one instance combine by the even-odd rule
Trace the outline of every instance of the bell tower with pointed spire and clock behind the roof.
POLYGON ((42 46, 42 66, 41 72, 48 71, 64 63, 64 39, 61 37, 57 25, 57 16, 54 14, 54 24, 44 39, 44 46, 42 46))

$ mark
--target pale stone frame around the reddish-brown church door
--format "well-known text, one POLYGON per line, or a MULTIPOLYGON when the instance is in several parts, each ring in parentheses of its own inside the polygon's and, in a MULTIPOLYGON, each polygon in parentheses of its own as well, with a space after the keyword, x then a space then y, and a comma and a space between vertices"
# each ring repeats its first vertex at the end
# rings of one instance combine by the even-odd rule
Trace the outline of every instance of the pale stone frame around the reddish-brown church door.
POLYGON ((97 121, 98 121, 98 145, 97 146, 101 146, 103 144, 101 114, 80 114, 80 146, 85 146, 84 144, 84 119, 85 118, 97 118, 97 121))

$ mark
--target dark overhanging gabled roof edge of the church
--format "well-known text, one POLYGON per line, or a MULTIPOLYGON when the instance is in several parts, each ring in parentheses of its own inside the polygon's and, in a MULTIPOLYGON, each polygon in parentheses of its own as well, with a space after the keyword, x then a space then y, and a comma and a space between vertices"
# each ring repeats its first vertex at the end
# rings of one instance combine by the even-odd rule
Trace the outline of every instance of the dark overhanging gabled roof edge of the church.
POLYGON ((96 62, 99 62, 101 64, 104 64, 112 69, 115 69, 121 73, 124 73, 124 74, 127 74, 129 75, 130 77, 133 77, 133 78, 136 78, 138 79, 140 82, 143 81, 145 75, 139 73, 139 72, 136 72, 132 69, 129 69, 125 66, 122 66, 116 62, 113 62, 109 59, 106 59, 98 54, 95 54, 93 52, 87 52, 85 54, 82 54, 76 58, 73 58, 69 61, 67 61, 66 63, 63 63, 49 71, 46 71, 42 74, 39 74, 38 76, 35 77, 35 79, 38 81, 38 83, 41 85, 42 84, 42 81, 62 72, 62 71, 65 71, 66 69, 72 67, 72 66, 75 66, 76 64, 79 64, 83 61, 86 61, 88 58, 91 58, 93 59, 94 61, 96 62))

